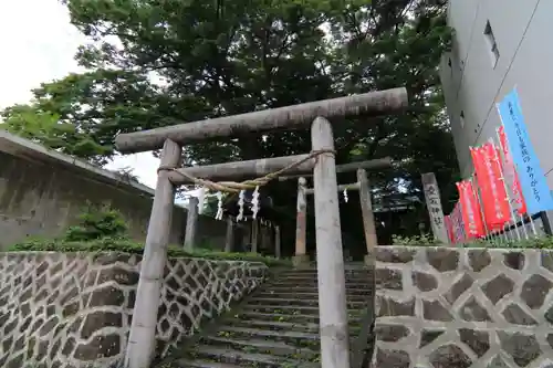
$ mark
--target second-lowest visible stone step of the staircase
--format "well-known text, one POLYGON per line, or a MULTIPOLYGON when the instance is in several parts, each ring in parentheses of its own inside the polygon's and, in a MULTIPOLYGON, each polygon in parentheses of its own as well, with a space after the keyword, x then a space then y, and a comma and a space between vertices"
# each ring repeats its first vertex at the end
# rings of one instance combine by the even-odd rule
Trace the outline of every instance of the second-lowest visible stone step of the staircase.
POLYGON ((285 356, 301 360, 313 360, 320 356, 319 346, 315 349, 298 348, 293 344, 284 341, 273 341, 257 338, 227 338, 227 337, 204 337, 202 345, 209 345, 218 348, 228 348, 248 354, 268 354, 273 356, 285 356))

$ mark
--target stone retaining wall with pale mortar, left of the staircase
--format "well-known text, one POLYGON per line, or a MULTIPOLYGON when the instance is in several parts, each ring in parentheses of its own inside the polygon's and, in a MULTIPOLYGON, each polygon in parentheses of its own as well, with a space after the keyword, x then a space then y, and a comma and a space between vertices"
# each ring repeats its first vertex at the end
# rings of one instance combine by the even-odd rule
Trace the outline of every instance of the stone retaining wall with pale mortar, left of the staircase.
MULTIPOLYGON (((0 367, 106 367, 123 358, 140 257, 0 254, 0 367)), ((157 324, 163 356, 184 336, 254 290, 262 263, 175 259, 167 263, 157 324)))

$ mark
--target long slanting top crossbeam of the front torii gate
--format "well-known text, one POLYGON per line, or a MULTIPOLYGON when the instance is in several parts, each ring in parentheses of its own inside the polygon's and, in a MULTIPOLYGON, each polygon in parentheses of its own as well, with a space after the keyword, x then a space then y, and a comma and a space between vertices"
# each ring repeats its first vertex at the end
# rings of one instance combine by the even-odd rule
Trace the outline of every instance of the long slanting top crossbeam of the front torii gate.
POLYGON ((139 153, 159 149, 166 139, 185 145, 236 136, 246 132, 303 128, 317 116, 327 119, 361 115, 377 116, 397 113, 406 106, 407 90, 400 87, 121 134, 115 138, 115 146, 124 154, 139 153))

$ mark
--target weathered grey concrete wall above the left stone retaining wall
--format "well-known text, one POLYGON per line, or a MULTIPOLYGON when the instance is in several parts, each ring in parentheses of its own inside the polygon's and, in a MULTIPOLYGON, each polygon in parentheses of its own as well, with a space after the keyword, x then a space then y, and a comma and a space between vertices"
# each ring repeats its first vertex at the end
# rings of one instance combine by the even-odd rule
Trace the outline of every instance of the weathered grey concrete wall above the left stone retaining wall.
MULTIPOLYGON (((0 250, 28 236, 55 236, 87 201, 109 202, 144 241, 154 190, 0 130, 0 250)), ((170 242, 184 241, 186 209, 175 206, 170 242)), ((198 239, 223 249, 226 222, 200 217, 198 239)))

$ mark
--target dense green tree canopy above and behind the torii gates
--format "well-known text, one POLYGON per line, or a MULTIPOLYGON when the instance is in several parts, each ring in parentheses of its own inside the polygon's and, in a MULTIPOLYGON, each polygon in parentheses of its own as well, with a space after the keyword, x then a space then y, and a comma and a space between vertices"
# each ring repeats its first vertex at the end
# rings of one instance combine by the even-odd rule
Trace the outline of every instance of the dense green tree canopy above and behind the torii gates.
MULTIPOLYGON (((336 122, 337 162, 392 156, 401 165, 375 186, 420 196, 420 172, 435 171, 445 198, 455 192, 438 76, 451 39, 446 0, 63 2, 90 38, 75 56, 87 72, 4 111, 12 132, 103 164, 117 133, 406 86, 405 114, 336 122)), ((309 132, 274 132, 185 153, 187 164, 217 164, 310 149, 309 132)), ((275 203, 293 206, 295 183, 286 188, 271 191, 275 203)))

